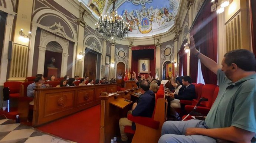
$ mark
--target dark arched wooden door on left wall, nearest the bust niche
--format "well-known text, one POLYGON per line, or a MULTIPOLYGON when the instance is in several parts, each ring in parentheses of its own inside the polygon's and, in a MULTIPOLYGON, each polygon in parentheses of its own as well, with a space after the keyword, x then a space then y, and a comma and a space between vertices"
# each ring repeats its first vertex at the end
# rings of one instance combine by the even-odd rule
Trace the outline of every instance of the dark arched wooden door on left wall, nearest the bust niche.
POLYGON ((89 76, 89 79, 95 81, 96 78, 96 66, 97 66, 97 54, 92 52, 87 52, 85 54, 85 61, 83 67, 83 73, 89 76))

